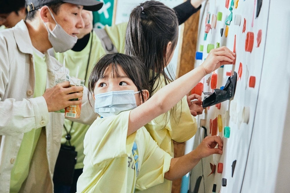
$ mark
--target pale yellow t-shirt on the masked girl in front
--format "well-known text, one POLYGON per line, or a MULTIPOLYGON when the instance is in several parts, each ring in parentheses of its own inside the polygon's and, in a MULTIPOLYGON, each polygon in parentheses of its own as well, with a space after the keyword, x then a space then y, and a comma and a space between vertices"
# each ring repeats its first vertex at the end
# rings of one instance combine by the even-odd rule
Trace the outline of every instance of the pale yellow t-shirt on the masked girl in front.
POLYGON ((84 170, 77 192, 133 193, 163 182, 172 157, 158 147, 144 127, 127 137, 130 111, 98 117, 84 140, 84 170), (132 154, 137 145, 138 170, 132 154), (144 172, 141 172, 144 171, 144 172), (142 175, 140 175, 142 173, 142 175))

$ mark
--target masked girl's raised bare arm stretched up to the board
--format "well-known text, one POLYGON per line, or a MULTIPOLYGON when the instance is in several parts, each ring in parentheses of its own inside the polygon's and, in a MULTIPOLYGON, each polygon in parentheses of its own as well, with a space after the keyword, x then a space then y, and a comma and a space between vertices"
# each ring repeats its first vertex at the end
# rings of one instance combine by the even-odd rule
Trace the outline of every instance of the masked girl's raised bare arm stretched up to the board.
POLYGON ((164 86, 153 94, 148 101, 131 111, 127 135, 134 133, 155 117, 170 110, 206 74, 213 72, 222 65, 231 64, 234 59, 235 53, 225 46, 212 49, 200 66, 164 86))

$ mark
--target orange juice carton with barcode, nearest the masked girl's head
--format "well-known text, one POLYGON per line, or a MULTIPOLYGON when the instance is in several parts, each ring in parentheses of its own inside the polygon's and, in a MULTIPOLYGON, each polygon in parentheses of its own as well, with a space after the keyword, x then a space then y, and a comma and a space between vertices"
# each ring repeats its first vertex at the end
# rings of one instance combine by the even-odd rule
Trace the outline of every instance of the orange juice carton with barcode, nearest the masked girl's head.
MULTIPOLYGON (((77 79, 77 78, 70 78, 70 87, 71 86, 84 86, 85 80, 77 79)), ((78 100, 78 99, 71 99, 78 100)), ((81 115, 81 104, 79 105, 70 105, 65 108, 65 114, 66 117, 72 117, 72 118, 79 118, 81 115)))

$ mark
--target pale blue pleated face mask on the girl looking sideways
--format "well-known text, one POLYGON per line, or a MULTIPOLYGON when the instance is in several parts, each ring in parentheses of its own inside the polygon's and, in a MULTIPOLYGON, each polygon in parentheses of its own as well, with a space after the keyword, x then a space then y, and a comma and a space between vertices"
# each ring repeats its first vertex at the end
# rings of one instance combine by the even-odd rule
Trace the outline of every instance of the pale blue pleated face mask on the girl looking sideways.
POLYGON ((95 95, 95 112, 102 117, 117 115, 137 107, 134 90, 119 90, 95 95))

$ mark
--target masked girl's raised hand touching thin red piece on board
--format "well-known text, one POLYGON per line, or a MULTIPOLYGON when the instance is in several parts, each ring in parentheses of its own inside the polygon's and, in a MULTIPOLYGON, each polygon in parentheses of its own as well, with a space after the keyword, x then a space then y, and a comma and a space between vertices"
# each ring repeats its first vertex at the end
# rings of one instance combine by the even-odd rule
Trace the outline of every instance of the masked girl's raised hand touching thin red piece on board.
POLYGON ((209 74, 222 65, 233 64, 235 60, 235 53, 229 50, 226 46, 212 49, 205 61, 201 64, 204 68, 204 72, 209 74))

